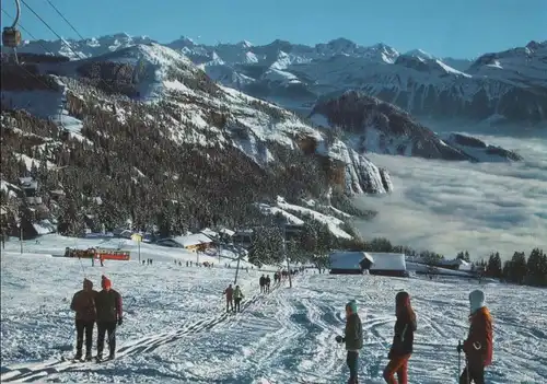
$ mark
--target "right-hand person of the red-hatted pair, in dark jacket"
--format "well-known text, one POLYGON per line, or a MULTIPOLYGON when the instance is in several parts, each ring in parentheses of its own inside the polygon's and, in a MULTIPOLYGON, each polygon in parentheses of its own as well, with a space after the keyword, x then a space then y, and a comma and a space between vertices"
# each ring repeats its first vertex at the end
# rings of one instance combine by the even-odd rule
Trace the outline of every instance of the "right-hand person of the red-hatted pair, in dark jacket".
POLYGON ((112 281, 102 276, 101 287, 97 293, 95 306, 97 310, 97 361, 103 360, 104 338, 108 333, 108 359, 116 356, 116 325, 121 325, 121 295, 112 289, 112 281))

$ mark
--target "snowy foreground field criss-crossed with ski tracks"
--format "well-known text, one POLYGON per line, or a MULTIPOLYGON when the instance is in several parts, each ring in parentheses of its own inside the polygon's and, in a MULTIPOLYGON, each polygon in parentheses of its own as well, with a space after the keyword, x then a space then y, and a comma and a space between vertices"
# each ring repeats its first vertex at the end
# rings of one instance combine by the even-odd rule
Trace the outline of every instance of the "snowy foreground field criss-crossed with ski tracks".
MULTIPOLYGON (((185 268, 168 263, 108 263, 124 294, 116 360, 59 361, 73 353, 78 260, 2 255, 2 382, 342 383, 346 351, 334 338, 345 326, 345 303, 358 301, 364 347, 360 382, 382 383, 395 323, 394 298, 407 290, 418 316, 410 383, 457 377, 458 339, 468 328, 467 280, 437 281, 307 271, 259 294, 261 272, 240 275, 242 313, 224 313, 221 295, 233 269, 185 268)), ((84 267, 97 281, 103 268, 84 267)), ((494 362, 488 383, 547 382, 545 290, 480 286, 494 318, 494 362)), ((95 329, 96 331, 96 329, 95 329)), ((462 361, 462 366, 464 361, 462 361)))

